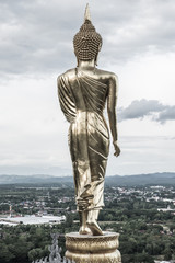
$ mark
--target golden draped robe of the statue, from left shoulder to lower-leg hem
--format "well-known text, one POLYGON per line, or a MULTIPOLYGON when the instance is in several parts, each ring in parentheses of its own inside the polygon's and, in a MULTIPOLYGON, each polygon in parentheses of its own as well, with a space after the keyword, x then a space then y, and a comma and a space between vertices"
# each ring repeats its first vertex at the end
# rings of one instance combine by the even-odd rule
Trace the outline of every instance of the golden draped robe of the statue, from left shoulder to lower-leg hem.
POLYGON ((73 164, 78 210, 104 206, 104 176, 109 134, 103 116, 107 85, 74 69, 58 79, 61 110, 70 123, 69 147, 73 164))

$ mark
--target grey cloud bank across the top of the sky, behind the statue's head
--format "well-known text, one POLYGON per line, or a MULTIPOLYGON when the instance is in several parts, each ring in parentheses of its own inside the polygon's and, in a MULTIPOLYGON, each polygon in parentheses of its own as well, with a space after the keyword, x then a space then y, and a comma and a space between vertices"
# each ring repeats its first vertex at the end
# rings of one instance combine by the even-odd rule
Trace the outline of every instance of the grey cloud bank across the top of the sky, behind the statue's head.
MULTIPOLYGON (((72 38, 83 22, 84 5, 70 0, 1 2, 1 70, 38 73, 73 65, 72 38)), ((173 0, 135 0, 132 4, 110 0, 107 5, 104 0, 91 0, 90 7, 92 21, 104 38, 104 65, 107 59, 131 60, 152 48, 174 52, 173 0)))

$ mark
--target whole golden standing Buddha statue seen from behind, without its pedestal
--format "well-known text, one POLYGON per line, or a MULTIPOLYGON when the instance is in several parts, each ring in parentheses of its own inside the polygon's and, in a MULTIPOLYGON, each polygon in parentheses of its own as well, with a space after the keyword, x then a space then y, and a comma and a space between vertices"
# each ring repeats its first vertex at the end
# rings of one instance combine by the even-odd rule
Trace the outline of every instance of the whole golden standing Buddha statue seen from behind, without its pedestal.
POLYGON ((97 224, 104 206, 104 179, 109 153, 109 132, 103 115, 107 102, 115 156, 117 145, 117 76, 96 68, 102 37, 92 25, 89 7, 73 38, 78 66, 58 77, 61 110, 70 123, 69 147, 73 165, 80 235, 102 236, 97 224))

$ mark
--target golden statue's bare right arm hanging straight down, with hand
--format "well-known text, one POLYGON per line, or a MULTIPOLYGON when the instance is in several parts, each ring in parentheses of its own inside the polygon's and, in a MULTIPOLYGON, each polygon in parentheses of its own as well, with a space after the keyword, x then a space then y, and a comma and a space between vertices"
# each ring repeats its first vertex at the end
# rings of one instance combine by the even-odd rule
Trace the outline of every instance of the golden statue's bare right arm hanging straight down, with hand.
POLYGON ((113 75, 109 78, 108 96, 107 96, 107 113, 109 119, 110 132, 113 136, 113 144, 115 148, 115 156, 119 156, 120 149, 117 145, 117 116, 116 116, 116 105, 117 105, 117 90, 118 90, 118 78, 113 75))

